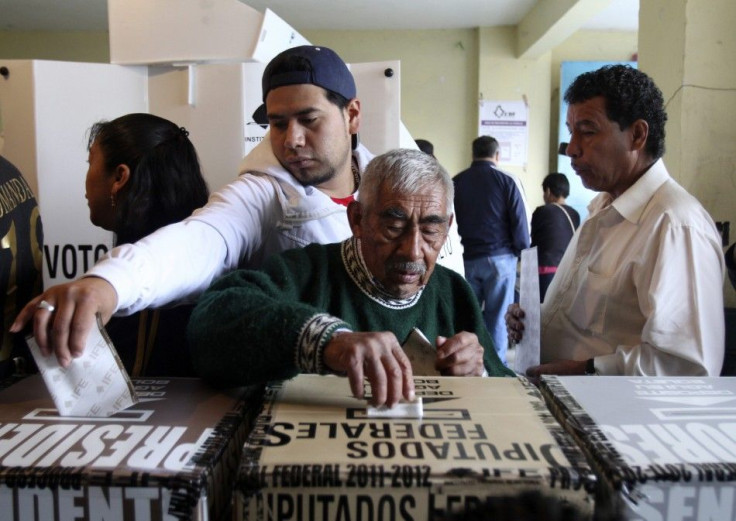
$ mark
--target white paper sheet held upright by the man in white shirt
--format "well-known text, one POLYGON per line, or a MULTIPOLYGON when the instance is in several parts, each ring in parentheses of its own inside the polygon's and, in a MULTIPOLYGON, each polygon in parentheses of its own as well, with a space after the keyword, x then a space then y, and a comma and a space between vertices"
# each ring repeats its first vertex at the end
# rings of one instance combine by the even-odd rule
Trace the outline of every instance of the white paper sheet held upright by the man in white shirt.
POLYGON ((539 304, 539 269, 536 246, 521 252, 519 305, 524 310, 524 336, 521 342, 516 344, 514 371, 526 374, 529 367, 539 365, 541 306, 539 304))

